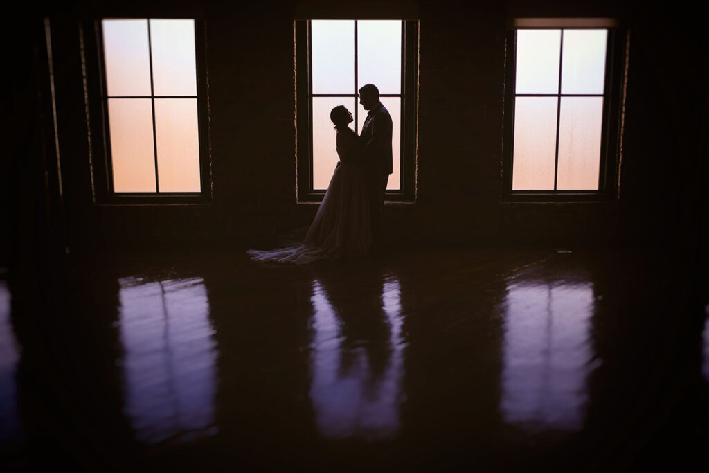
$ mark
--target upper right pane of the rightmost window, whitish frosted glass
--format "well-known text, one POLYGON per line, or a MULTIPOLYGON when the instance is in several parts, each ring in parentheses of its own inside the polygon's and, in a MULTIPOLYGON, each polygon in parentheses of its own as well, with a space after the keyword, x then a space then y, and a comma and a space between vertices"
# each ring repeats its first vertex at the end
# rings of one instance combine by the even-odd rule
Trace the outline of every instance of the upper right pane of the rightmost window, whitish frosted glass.
POLYGON ((562 94, 603 94, 608 30, 564 30, 562 94))

